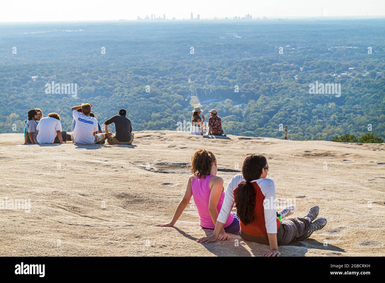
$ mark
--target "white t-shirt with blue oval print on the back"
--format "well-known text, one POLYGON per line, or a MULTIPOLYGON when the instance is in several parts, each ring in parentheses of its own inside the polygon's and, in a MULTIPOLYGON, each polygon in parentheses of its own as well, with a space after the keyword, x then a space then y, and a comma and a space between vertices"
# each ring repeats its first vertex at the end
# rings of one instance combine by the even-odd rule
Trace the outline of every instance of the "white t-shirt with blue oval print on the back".
POLYGON ((93 144, 95 141, 93 132, 99 130, 97 120, 94 117, 85 116, 83 113, 72 111, 72 116, 76 120, 74 128, 74 143, 93 144))

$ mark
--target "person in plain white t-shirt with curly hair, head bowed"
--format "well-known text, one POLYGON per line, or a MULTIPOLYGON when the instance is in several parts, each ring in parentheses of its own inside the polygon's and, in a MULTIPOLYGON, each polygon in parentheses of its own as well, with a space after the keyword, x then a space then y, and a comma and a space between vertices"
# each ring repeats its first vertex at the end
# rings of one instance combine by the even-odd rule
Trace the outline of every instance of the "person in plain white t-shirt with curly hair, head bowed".
POLYGON ((50 113, 48 117, 40 119, 36 131, 39 144, 62 144, 67 141, 67 132, 62 131, 60 116, 57 113, 50 113))

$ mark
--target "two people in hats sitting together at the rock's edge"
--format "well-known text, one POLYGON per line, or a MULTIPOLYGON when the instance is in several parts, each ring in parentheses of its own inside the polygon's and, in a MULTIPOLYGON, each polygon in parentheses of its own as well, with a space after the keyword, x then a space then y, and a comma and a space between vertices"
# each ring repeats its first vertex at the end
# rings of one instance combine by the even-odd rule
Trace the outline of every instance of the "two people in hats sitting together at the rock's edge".
POLYGON ((192 111, 191 134, 203 135, 205 132, 208 132, 209 135, 226 137, 222 129, 221 117, 218 116, 218 111, 216 111, 216 109, 209 111, 211 115, 209 118, 209 129, 206 129, 206 125, 204 124, 206 119, 204 115, 202 114, 203 119, 199 116, 201 112, 202 110, 199 106, 194 107, 192 111))

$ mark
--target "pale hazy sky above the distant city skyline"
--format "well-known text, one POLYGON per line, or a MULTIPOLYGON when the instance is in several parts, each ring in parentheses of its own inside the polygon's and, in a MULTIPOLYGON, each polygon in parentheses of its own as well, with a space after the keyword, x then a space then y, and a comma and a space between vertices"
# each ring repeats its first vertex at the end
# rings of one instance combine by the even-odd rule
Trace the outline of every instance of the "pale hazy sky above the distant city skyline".
POLYGON ((201 19, 213 17, 319 17, 385 15, 385 0, 5 0, 1 2, 1 22, 134 20, 151 14, 156 17, 201 19))

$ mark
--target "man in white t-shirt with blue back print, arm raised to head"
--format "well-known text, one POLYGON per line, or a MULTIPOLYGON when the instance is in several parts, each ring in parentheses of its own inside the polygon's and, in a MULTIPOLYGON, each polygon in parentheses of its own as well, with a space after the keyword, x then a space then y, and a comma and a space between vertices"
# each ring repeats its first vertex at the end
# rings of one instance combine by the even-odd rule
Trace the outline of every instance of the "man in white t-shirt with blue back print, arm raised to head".
POLYGON ((92 104, 82 104, 71 108, 72 116, 76 120, 74 131, 71 133, 71 140, 79 144, 101 144, 107 138, 105 134, 96 134, 99 131, 97 120, 90 117, 92 104), (77 112, 82 109, 82 112, 77 112))

